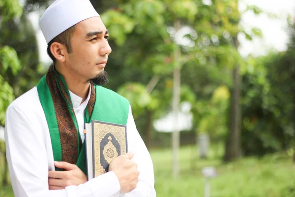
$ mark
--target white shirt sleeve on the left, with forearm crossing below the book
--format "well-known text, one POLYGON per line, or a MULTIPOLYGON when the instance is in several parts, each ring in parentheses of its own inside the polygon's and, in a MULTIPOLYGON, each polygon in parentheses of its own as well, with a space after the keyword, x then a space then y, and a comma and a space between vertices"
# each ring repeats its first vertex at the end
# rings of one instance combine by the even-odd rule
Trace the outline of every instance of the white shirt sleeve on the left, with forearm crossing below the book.
POLYGON ((119 192, 114 172, 79 186, 49 190, 46 139, 29 118, 15 106, 6 112, 6 157, 15 197, 110 197, 119 192))

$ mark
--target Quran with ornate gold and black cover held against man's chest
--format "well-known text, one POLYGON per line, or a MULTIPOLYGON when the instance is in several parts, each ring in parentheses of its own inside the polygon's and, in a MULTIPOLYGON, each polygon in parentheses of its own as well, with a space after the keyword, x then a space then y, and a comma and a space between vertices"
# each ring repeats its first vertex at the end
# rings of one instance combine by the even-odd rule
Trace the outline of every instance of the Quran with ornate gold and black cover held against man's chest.
POLYGON ((85 123, 88 180, 109 171, 111 162, 127 153, 126 125, 92 120, 85 123))

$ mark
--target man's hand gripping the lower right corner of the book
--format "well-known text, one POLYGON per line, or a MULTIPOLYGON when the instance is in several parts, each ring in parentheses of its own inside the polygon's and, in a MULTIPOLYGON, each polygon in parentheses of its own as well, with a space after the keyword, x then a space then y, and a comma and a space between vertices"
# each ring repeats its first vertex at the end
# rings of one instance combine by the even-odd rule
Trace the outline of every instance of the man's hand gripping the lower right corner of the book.
POLYGON ((109 166, 109 171, 113 171, 118 177, 121 193, 128 193, 137 186, 139 171, 137 164, 132 162, 134 154, 127 153, 117 157, 109 166))

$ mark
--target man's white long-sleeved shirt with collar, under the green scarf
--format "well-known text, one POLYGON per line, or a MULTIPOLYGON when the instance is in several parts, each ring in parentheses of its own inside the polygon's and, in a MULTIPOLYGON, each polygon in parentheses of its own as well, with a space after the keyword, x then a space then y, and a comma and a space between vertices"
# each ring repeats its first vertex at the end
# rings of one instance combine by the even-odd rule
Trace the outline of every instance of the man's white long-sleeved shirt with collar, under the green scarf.
MULTIPOLYGON (((84 110, 89 97, 80 105, 81 98, 73 93, 70 93, 70 96, 81 132, 84 126, 84 110)), ((140 171, 135 190, 121 194, 118 178, 112 171, 79 186, 49 190, 48 171, 55 170, 54 157, 46 117, 37 88, 34 87, 14 100, 6 111, 6 157, 14 195, 15 197, 155 197, 152 161, 136 129, 130 106, 127 141, 128 151, 135 154, 132 161, 138 164, 140 171)))

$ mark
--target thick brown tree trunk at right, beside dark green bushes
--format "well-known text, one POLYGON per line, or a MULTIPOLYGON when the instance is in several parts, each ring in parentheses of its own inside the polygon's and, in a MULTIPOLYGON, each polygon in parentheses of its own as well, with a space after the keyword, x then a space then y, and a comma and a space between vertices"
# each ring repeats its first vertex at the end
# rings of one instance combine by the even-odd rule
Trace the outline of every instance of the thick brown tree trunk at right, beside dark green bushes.
MULTIPOLYGON (((234 38, 234 44, 238 47, 237 37, 234 38)), ((241 149, 241 106, 240 106, 241 79, 239 75, 239 65, 233 70, 233 88, 231 90, 230 100, 230 120, 229 135, 225 147, 224 161, 233 161, 240 157, 241 149)))

